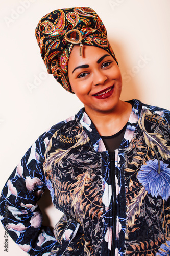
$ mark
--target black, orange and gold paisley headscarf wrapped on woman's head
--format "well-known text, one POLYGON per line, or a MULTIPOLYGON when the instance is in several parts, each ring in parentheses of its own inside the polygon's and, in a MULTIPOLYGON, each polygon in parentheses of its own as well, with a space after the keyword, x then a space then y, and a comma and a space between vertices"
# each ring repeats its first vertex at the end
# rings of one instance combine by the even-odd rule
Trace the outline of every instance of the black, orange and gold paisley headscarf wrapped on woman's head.
POLYGON ((91 8, 59 9, 45 15, 36 27, 36 39, 42 59, 48 73, 53 74, 64 89, 72 93, 68 79, 68 60, 74 44, 67 41, 66 33, 67 39, 79 40, 82 37, 80 47, 81 44, 100 47, 109 52, 115 60, 116 58, 107 40, 105 26, 91 8), (81 34, 77 33, 77 30, 81 34))

